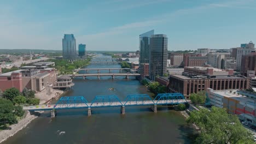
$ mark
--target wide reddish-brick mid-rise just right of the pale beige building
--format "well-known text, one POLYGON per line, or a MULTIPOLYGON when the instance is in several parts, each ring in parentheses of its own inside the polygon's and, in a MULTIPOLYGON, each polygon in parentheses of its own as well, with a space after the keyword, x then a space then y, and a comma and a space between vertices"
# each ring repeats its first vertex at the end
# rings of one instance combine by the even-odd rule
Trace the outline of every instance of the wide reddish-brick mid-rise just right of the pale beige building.
POLYGON ((207 63, 207 56, 202 56, 202 54, 184 54, 183 63, 184 67, 201 67, 207 63))

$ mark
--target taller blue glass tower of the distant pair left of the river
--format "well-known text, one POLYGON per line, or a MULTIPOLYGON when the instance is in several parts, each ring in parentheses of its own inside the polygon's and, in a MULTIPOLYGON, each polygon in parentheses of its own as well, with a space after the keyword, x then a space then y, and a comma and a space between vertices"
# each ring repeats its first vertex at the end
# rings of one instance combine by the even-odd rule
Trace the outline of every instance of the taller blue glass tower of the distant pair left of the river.
POLYGON ((63 59, 67 59, 69 61, 75 61, 77 59, 76 52, 77 52, 77 49, 75 47, 74 35, 64 34, 64 38, 62 39, 63 59))

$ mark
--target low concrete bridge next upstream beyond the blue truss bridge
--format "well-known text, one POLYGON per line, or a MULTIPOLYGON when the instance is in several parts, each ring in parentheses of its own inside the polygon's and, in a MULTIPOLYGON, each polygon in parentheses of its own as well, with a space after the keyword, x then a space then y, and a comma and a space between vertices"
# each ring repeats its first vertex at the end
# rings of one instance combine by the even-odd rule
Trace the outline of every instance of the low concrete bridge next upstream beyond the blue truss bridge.
POLYGON ((107 73, 107 74, 74 74, 74 75, 67 75, 67 76, 70 76, 70 77, 83 77, 85 79, 86 76, 97 76, 98 79, 100 79, 101 76, 112 76, 112 79, 115 78, 115 76, 125 76, 126 79, 129 79, 129 76, 139 76, 141 74, 132 74, 132 73, 107 73))

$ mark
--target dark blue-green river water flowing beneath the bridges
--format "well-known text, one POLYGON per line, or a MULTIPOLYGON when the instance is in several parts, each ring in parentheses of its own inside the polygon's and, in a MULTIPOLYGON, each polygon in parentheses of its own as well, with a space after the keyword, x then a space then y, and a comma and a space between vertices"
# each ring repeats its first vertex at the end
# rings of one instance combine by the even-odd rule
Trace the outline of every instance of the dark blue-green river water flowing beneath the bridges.
MULTIPOLYGON (((120 68, 120 65, 95 64, 86 68, 120 68)), ((114 94, 121 100, 128 94, 154 95, 135 77, 129 78, 74 79, 73 89, 63 96, 84 96, 91 101, 96 95, 114 94), (112 87, 114 91, 109 91, 112 87)), ((87 109, 58 110, 55 118, 46 111, 3 143, 190 143, 193 129, 170 107, 158 106, 157 113, 149 106, 125 107, 125 111, 122 115, 120 107, 92 108, 92 115, 88 117, 87 109)))

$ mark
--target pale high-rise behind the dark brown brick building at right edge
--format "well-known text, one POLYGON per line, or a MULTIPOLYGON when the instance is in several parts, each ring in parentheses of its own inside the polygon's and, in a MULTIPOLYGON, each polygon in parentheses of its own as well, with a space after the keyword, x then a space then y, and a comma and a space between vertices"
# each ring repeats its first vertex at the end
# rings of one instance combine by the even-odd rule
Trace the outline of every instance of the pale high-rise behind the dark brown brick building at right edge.
MULTIPOLYGON (((244 44, 242 44, 243 46, 244 44)), ((237 54, 236 54, 236 69, 241 70, 241 62, 242 62, 242 56, 243 55, 249 55, 252 51, 255 51, 254 44, 252 41, 250 41, 249 44, 245 47, 239 47, 237 48, 237 54)))

